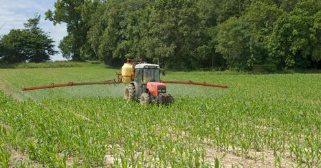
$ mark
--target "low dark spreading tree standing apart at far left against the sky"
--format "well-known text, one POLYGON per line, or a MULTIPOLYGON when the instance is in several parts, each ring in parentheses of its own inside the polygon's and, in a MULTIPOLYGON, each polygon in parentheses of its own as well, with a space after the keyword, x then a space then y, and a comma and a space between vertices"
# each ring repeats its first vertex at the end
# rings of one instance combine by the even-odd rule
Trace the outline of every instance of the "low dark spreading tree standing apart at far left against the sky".
POLYGON ((43 62, 57 53, 54 40, 38 27, 40 15, 28 19, 25 29, 11 29, 0 39, 0 62, 43 62))

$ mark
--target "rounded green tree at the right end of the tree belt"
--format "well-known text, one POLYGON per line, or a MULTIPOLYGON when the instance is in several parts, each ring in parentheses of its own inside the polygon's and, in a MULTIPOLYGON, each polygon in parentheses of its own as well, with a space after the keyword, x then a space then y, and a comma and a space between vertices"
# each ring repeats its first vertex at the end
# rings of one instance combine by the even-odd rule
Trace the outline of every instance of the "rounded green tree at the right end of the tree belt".
POLYGON ((282 68, 307 68, 321 60, 321 3, 305 0, 283 14, 269 36, 269 60, 282 68))

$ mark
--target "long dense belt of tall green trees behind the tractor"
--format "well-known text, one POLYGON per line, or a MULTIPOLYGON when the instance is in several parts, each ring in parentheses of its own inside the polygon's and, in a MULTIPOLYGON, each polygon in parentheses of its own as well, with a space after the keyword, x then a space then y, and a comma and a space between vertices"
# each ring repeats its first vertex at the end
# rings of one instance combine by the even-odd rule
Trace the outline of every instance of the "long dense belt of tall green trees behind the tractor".
POLYGON ((320 68, 318 0, 58 0, 63 56, 162 62, 171 69, 320 68))

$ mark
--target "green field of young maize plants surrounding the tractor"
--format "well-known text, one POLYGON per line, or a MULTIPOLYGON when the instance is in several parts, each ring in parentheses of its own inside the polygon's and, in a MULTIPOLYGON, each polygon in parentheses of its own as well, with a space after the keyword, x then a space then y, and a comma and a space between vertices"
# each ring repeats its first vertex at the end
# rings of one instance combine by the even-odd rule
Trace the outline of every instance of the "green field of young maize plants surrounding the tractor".
POLYGON ((168 71, 162 80, 229 87, 167 84, 168 92, 175 95, 170 106, 126 102, 123 84, 21 91, 52 82, 111 80, 115 71, 120 70, 99 66, 0 69, 1 82, 24 99, 17 101, 0 91, 0 163, 19 163, 6 163, 10 151, 48 167, 228 163, 224 157, 212 156, 214 149, 272 166, 320 167, 320 74, 168 71), (265 162, 269 155, 273 163, 265 162))

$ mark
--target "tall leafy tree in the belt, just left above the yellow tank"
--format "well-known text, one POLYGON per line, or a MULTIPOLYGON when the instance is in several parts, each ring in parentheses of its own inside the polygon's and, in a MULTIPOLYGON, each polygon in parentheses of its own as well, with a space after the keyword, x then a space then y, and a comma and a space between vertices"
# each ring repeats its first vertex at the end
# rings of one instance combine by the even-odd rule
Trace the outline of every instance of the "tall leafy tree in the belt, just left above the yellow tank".
POLYGON ((102 20, 90 30, 93 36, 89 38, 95 45, 98 41, 97 35, 101 34, 98 56, 104 62, 110 63, 124 58, 146 58, 142 39, 146 35, 144 29, 148 25, 146 17, 149 15, 146 11, 149 5, 145 0, 118 1, 109 5, 102 20), (98 27, 103 27, 103 31, 100 32, 98 27))

